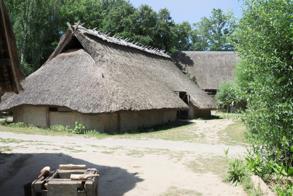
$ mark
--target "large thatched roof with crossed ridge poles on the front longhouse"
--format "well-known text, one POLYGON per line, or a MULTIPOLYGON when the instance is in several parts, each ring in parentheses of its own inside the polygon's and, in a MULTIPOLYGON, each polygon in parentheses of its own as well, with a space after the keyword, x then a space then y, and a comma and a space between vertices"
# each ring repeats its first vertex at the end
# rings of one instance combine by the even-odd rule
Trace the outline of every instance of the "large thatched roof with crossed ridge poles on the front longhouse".
POLYGON ((190 93, 199 109, 215 108, 214 100, 160 51, 111 42, 104 33, 81 26, 71 28, 48 61, 25 79, 25 90, 5 95, 0 109, 56 105, 81 113, 114 113, 188 108, 174 91, 190 93))

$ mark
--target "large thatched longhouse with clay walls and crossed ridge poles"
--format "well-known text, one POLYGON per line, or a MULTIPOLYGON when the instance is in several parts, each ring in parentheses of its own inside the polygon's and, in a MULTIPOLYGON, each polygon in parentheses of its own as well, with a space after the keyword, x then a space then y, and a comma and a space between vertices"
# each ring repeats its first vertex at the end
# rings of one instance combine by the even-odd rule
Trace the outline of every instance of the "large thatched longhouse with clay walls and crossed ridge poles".
MULTIPOLYGON (((70 25, 69 25, 70 26, 70 25)), ((215 102, 157 48, 70 26, 47 62, 4 95, 13 122, 41 127, 74 122, 101 132, 210 115, 215 102)))

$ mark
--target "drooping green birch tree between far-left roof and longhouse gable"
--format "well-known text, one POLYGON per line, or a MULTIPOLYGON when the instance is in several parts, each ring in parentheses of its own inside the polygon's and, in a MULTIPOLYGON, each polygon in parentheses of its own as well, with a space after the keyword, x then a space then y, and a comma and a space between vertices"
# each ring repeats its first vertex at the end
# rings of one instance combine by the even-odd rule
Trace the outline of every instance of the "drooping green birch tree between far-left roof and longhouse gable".
POLYGON ((61 1, 7 0, 5 4, 16 34, 21 68, 29 75, 56 47, 61 1))

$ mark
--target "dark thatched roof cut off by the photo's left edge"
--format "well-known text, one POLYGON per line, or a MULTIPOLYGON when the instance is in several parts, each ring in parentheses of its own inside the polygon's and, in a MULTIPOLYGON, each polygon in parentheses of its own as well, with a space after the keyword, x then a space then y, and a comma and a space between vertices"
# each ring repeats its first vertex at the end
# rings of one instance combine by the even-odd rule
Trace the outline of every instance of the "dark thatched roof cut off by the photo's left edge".
POLYGON ((3 0, 0 2, 0 87, 2 92, 19 93, 23 90, 15 35, 3 0))

